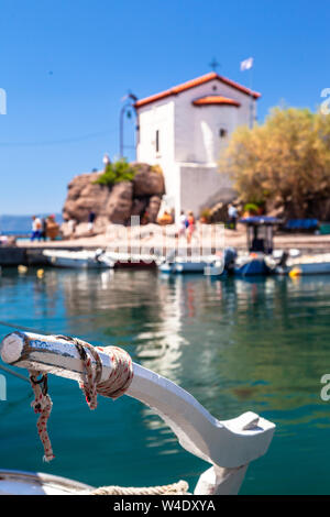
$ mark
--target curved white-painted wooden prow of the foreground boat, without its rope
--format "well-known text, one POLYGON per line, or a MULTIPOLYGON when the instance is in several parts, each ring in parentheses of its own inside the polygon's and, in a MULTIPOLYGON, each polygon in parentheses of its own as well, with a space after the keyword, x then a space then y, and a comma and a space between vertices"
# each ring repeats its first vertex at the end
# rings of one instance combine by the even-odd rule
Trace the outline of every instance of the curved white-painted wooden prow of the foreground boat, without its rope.
MULTIPOLYGON (((58 337, 12 332, 3 339, 0 351, 8 364, 76 381, 85 375, 76 346, 58 337)), ((105 381, 112 363, 109 355, 100 350, 98 353, 105 381)), ((90 359, 95 362, 91 355, 90 359)), ((184 449, 212 465, 200 476, 195 494, 237 494, 249 463, 267 451, 275 425, 254 413, 218 420, 175 383, 135 363, 133 372, 125 394, 150 406, 172 428, 184 449)))

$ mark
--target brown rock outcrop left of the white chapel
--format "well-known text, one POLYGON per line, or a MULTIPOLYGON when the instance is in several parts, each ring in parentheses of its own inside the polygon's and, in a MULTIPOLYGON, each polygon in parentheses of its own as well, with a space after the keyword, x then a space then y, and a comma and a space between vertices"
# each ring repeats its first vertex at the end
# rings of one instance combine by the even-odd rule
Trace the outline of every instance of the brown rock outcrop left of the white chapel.
MULTIPOLYGON (((143 217, 145 211, 148 222, 155 222, 165 193, 163 174, 147 164, 132 165, 136 168, 132 182, 121 182, 112 187, 94 183, 102 172, 75 176, 68 184, 63 207, 64 220, 74 220, 77 233, 80 233, 78 227, 86 231, 91 211, 96 215, 95 233, 103 232, 109 222, 127 224, 131 216, 143 217)), ((66 233, 67 222, 63 230, 66 233)))

